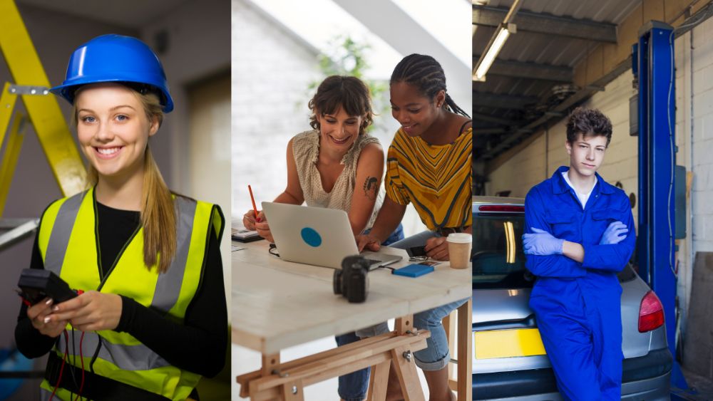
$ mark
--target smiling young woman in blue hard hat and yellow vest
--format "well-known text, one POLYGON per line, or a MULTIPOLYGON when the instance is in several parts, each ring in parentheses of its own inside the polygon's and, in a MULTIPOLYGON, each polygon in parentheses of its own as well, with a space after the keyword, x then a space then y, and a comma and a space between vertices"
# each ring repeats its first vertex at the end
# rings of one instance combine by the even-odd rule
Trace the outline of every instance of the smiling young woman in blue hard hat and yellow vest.
POLYGON ((41 399, 185 400, 225 364, 217 205, 172 194, 148 140, 173 110, 153 51, 105 35, 71 56, 51 91, 73 105, 88 189, 43 213, 31 267, 83 293, 22 306, 30 358, 49 353, 41 399))

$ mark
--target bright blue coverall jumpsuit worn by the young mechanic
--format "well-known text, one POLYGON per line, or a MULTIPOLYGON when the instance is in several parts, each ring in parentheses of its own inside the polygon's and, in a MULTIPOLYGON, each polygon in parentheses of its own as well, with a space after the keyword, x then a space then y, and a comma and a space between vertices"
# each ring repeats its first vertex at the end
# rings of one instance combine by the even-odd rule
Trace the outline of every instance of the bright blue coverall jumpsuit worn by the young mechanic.
POLYGON ((560 167, 525 198, 525 232, 543 229, 558 239, 581 244, 584 261, 564 255, 528 255, 535 276, 530 308, 552 363, 557 386, 567 400, 620 400, 622 383, 622 288, 617 272, 636 242, 629 198, 597 174, 582 207, 560 167), (618 244, 600 245, 610 223, 629 232, 618 244))

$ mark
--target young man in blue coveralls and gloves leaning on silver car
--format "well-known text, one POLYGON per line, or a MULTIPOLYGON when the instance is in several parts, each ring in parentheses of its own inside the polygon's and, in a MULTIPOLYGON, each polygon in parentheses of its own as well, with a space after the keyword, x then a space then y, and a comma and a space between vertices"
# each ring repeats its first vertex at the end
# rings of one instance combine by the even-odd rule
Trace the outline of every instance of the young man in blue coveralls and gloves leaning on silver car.
POLYGON ((525 266, 537 277, 530 308, 566 400, 620 400, 622 288, 636 242, 629 198, 597 174, 612 137, 599 110, 567 123, 570 166, 525 197, 525 266))

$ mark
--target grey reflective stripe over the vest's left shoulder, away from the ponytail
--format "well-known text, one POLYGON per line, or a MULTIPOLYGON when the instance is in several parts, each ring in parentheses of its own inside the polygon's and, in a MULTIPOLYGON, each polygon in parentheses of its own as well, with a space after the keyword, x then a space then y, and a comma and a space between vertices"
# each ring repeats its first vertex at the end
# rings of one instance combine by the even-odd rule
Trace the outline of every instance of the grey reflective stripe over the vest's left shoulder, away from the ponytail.
POLYGON ((72 229, 77 219, 79 207, 86 194, 87 191, 84 191, 68 198, 57 211, 57 217, 54 220, 52 231, 49 234, 44 261, 44 268, 57 276, 59 276, 62 270, 64 256, 67 251, 67 246, 69 245, 69 237, 72 235, 72 229))

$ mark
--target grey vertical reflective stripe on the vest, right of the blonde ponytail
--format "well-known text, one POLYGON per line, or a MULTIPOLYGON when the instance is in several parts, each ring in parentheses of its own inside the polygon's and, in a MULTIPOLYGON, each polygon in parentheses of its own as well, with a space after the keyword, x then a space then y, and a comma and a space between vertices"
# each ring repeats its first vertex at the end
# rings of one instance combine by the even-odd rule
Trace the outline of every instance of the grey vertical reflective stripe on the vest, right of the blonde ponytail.
POLYGON ((183 283, 183 274, 185 273, 185 264, 188 261, 188 249, 190 248, 190 236, 193 233, 196 205, 196 202, 192 199, 175 198, 177 217, 176 253, 170 266, 168 266, 168 271, 158 275, 156 288, 153 291, 151 308, 168 312, 178 301, 180 287, 183 283))

